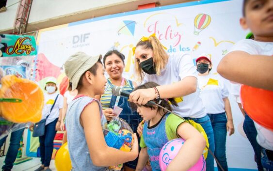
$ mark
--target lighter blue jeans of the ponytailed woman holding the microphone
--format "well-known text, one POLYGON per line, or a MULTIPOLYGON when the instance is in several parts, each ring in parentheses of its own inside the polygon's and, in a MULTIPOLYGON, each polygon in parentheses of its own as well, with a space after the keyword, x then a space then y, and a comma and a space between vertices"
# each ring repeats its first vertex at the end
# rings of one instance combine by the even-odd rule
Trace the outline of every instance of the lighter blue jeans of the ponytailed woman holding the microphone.
MULTIPOLYGON (((188 117, 186 117, 188 118, 188 117)), ((206 115, 202 118, 188 118, 193 120, 194 122, 201 124, 203 129, 205 130, 207 137, 209 139, 209 149, 214 154, 215 145, 214 145, 214 134, 212 125, 209 119, 209 116, 206 115)), ((214 158, 213 156, 208 152, 208 156, 206 158, 206 171, 214 171, 214 158)))

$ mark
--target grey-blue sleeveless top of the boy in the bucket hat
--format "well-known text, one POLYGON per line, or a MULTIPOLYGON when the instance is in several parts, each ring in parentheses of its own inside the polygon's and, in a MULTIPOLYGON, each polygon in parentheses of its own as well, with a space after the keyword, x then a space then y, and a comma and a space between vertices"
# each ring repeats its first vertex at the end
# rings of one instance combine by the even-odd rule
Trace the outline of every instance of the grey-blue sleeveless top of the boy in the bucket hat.
MULTIPOLYGON (((66 113, 67 145, 73 171, 109 171, 108 167, 94 166, 88 146, 86 143, 83 127, 80 125, 80 114, 90 103, 97 102, 100 108, 102 129, 107 121, 102 113, 100 102, 88 96, 74 99, 69 105, 66 113)), ((90 113, 91 115, 94 113, 90 113)))

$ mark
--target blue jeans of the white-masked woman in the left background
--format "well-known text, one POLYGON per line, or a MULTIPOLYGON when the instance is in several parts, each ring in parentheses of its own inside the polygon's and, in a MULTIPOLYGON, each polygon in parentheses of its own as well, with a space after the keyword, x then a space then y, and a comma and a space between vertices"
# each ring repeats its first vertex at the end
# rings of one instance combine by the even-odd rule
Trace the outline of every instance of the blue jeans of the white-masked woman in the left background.
POLYGON ((40 153, 41 162, 45 167, 49 167, 52 152, 53 152, 53 140, 56 135, 55 126, 58 121, 56 118, 53 122, 46 125, 45 135, 39 137, 40 141, 40 153))

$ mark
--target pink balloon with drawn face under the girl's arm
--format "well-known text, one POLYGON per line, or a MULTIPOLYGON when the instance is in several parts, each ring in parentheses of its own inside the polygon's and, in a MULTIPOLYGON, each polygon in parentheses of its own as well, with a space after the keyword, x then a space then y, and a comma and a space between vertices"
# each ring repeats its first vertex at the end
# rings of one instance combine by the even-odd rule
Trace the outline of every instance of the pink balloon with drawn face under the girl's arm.
MULTIPOLYGON (((185 140, 183 139, 174 139, 170 140, 162 147, 159 155, 159 165, 161 171, 165 171, 167 169, 168 165, 176 157, 184 142, 185 140)), ((204 156, 201 155, 195 165, 188 171, 206 171, 204 156)))

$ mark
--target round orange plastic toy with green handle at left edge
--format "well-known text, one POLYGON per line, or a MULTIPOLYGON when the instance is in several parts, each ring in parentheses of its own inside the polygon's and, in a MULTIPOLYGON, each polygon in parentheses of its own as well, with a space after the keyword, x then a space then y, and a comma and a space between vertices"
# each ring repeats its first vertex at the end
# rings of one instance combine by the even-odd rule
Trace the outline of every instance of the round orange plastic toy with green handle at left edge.
POLYGON ((1 79, 0 98, 16 98, 20 103, 0 102, 0 115, 14 123, 39 122, 42 118, 44 94, 33 81, 8 75, 1 79))

